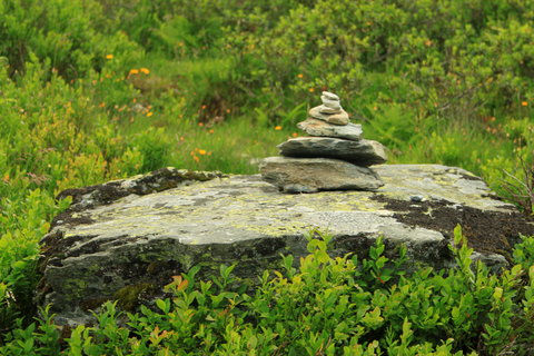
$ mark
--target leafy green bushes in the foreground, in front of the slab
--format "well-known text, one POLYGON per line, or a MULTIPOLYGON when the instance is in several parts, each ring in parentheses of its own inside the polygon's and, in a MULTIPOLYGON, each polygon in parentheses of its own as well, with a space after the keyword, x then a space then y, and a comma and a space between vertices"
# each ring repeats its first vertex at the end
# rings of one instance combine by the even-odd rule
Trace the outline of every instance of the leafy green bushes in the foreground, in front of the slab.
MULTIPOLYGON (((254 294, 239 291, 233 267, 195 283, 198 268, 176 276, 172 297, 141 307, 126 320, 107 303, 97 326, 78 326, 65 355, 530 355, 534 339, 534 238, 501 276, 477 263, 459 228, 453 248, 458 267, 405 276, 405 248, 392 263, 382 239, 369 258, 332 258, 330 238, 310 238, 309 255, 294 268, 265 271, 254 294), (526 269, 525 266, 530 266, 526 269), (126 323, 126 325, 123 324, 126 323), (122 326, 121 326, 122 325, 122 326), (476 350, 476 352, 475 352, 476 350)), ((57 355, 60 330, 48 315, 18 328, 2 355, 57 355)))

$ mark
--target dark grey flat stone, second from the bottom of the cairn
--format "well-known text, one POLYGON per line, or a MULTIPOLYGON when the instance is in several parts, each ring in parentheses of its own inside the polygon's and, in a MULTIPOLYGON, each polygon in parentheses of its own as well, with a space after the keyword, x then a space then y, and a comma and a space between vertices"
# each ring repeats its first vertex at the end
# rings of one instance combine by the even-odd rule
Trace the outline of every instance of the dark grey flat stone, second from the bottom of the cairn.
POLYGON ((333 137, 297 137, 277 147, 280 155, 286 157, 337 158, 364 167, 380 165, 387 160, 384 146, 366 139, 353 141, 333 137))

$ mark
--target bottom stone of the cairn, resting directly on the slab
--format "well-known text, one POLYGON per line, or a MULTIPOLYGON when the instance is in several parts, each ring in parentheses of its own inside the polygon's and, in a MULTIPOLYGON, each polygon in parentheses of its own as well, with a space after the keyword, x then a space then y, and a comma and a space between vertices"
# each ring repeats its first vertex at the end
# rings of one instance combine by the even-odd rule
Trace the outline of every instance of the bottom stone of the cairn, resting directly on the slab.
POLYGON ((332 158, 268 157, 259 171, 284 192, 376 190, 384 185, 374 170, 332 158))

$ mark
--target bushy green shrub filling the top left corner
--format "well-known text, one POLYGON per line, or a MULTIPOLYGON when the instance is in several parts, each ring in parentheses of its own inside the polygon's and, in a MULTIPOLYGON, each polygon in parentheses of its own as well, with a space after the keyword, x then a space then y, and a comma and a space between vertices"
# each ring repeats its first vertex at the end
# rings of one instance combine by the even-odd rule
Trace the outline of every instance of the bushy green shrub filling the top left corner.
POLYGON ((122 65, 139 48, 120 33, 101 32, 105 18, 97 1, 0 1, 0 53, 10 72, 21 72, 30 56, 48 61, 67 80, 100 71, 108 55, 122 65))

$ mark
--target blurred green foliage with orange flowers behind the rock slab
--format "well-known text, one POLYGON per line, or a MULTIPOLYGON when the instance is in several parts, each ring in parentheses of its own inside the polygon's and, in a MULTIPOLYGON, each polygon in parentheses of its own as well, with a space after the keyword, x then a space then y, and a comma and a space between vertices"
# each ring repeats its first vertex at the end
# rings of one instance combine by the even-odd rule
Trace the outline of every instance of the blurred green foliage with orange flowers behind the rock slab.
POLYGON ((516 0, 0 0, 0 334, 33 313, 57 192, 255 172, 322 89, 390 161, 469 169, 532 212, 533 23, 516 0))

